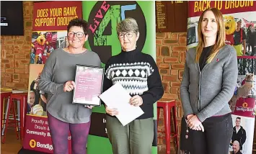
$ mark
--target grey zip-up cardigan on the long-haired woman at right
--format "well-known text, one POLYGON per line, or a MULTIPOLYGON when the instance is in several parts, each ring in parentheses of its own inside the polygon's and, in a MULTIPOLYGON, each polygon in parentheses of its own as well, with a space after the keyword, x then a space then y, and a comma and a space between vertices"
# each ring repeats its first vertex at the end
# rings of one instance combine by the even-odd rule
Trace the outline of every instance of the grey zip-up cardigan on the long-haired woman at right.
POLYGON ((236 50, 225 45, 201 72, 195 55, 195 48, 187 51, 180 86, 185 117, 196 114, 203 122, 208 117, 228 114, 231 112, 228 102, 234 94, 238 76, 236 50))

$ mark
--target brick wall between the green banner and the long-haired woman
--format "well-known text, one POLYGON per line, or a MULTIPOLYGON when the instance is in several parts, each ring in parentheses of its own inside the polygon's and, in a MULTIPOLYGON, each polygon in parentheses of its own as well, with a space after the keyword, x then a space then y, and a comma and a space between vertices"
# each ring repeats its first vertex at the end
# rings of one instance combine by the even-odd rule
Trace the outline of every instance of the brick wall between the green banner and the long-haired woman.
MULTIPOLYGON (((185 63, 187 34, 162 32, 156 33, 156 62, 161 74, 164 86, 164 100, 175 99, 177 101, 177 123, 180 136, 180 122, 182 117, 182 107, 180 102, 180 81, 185 63)), ((162 111, 160 111, 158 133, 158 150, 160 153, 165 151, 164 122, 162 121, 162 111)), ((173 126, 173 125, 172 125, 173 126)), ((179 137, 180 138, 180 137, 179 137)), ((171 148, 175 147, 175 142, 171 140, 171 148)), ((174 150, 172 150, 173 153, 174 150)))

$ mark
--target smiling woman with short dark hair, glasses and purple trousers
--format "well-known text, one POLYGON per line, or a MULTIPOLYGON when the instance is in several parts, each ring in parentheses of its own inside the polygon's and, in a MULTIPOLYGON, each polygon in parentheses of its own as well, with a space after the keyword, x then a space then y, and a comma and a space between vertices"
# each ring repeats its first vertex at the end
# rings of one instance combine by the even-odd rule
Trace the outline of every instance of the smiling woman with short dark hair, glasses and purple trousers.
POLYGON ((92 107, 72 104, 76 64, 100 66, 99 56, 84 48, 87 22, 73 19, 68 25, 69 47, 50 53, 39 80, 39 89, 47 92, 48 122, 53 153, 69 153, 71 132, 72 153, 86 153, 92 107))

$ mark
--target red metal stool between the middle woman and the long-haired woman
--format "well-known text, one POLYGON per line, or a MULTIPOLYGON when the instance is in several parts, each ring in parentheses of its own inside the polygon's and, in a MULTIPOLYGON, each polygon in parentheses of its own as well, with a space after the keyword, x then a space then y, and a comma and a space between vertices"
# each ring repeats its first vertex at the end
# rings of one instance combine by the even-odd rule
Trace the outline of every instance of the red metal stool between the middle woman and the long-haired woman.
POLYGON ((176 119, 176 102, 173 101, 157 101, 157 121, 159 119, 159 111, 160 108, 163 109, 164 113, 164 132, 165 132, 165 140, 166 140, 166 153, 171 153, 171 137, 175 137, 176 140, 176 150, 179 148, 178 143, 178 132, 177 132, 177 119, 176 119), (171 109, 172 109, 172 117, 175 124, 175 132, 171 133, 171 109), (172 135, 172 136, 171 136, 172 135))

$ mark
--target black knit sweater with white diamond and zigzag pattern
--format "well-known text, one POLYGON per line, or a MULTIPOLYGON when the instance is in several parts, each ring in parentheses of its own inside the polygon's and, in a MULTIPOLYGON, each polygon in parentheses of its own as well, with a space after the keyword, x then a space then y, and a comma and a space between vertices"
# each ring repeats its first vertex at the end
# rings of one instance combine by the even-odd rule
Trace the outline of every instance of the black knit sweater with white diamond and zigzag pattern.
POLYGON ((112 56, 105 65, 103 91, 115 83, 120 83, 131 96, 139 95, 143 99, 140 107, 144 114, 137 119, 154 116, 153 104, 162 98, 164 89, 158 68, 151 55, 136 49, 130 52, 122 51, 112 56))

